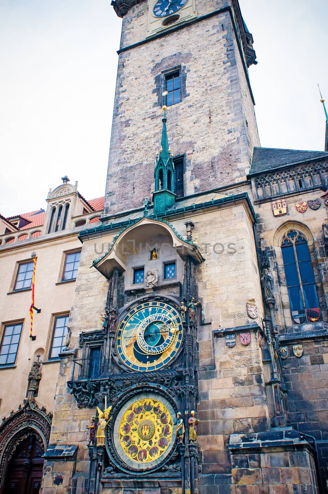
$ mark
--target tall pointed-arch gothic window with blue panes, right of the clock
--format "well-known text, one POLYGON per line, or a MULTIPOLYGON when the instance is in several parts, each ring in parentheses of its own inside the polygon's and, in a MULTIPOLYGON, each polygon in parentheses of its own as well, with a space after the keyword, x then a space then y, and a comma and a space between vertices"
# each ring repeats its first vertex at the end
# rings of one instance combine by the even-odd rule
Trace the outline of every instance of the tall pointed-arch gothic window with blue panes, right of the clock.
POLYGON ((309 321, 318 321, 319 300, 309 247, 304 235, 296 230, 289 230, 283 238, 281 249, 290 312, 294 322, 302 324, 306 316, 309 321))

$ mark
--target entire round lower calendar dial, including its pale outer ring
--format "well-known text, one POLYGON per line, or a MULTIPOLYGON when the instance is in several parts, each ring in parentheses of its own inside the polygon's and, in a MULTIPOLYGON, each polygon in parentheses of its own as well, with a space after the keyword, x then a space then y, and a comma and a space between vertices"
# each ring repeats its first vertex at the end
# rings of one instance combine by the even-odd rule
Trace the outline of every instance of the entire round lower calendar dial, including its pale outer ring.
POLYGON ((166 399, 153 393, 131 398, 113 429, 119 457, 133 470, 151 470, 163 462, 175 441, 176 415, 166 399))

